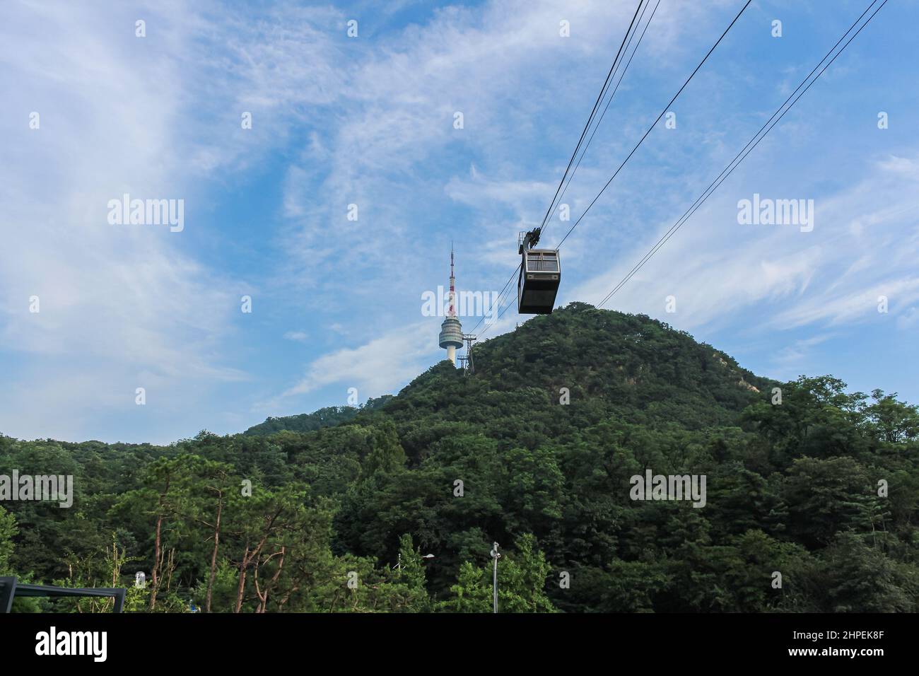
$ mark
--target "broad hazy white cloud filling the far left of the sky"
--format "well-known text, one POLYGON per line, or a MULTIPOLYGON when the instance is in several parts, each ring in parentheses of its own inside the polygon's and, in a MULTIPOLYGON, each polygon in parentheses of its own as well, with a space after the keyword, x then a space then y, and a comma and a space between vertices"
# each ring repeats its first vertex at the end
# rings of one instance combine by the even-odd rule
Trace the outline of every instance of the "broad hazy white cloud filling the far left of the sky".
POLYGON ((6 360, 28 360, 0 395, 7 434, 73 438, 88 415, 133 412, 135 386, 151 388, 160 406, 148 410, 164 419, 166 402, 201 384, 244 378, 218 349, 238 312, 233 281, 185 248, 193 210, 183 233, 107 222, 108 200, 124 192, 198 197, 175 152, 187 111, 170 49, 187 28, 169 9, 144 12, 146 39, 130 8, 22 4, 0 24, 0 88, 15 120, 0 166, 0 336, 6 360))

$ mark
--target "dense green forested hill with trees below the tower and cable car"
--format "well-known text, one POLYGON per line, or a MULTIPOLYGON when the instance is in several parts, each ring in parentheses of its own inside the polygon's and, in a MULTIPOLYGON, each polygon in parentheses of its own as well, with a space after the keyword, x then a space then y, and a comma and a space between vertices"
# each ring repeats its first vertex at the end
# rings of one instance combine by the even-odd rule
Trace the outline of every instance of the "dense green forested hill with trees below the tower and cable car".
POLYGON ((0 574, 130 586, 131 611, 490 612, 496 541, 503 612, 919 611, 919 411, 896 395, 772 382, 586 304, 475 366, 168 447, 0 437, 0 475, 75 492, 0 502, 0 574), (704 506, 632 499, 646 470, 704 475, 704 506))

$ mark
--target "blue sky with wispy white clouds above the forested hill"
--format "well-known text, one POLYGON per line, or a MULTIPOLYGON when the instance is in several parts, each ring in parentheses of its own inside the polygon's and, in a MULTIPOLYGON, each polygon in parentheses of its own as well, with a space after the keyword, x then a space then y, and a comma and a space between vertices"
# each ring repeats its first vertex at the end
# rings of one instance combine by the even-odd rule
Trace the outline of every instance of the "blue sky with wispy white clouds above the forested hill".
MULTIPOLYGON (((450 242, 460 289, 500 291, 636 3, 377 5, 4 5, 0 431, 233 432, 397 392, 444 358, 422 294, 447 283, 450 242), (123 193, 183 200, 184 229, 109 224, 123 193)), ((662 0, 565 196, 573 219, 742 5, 662 0)), ((655 127, 564 243, 559 302, 603 298, 867 5, 754 2, 675 129, 655 127)), ((917 19, 915 2, 881 9, 607 307, 762 375, 919 402, 917 19), (739 224, 754 193, 813 200, 813 230, 739 224)), ((569 225, 556 214, 544 242, 569 225)))

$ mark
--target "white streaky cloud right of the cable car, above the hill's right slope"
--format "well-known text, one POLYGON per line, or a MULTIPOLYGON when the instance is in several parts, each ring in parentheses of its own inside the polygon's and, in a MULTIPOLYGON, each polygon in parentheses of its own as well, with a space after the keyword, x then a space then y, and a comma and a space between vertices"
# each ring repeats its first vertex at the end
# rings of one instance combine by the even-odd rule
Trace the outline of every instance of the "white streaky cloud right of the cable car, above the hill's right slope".
MULTIPOLYGON (((825 326, 876 318, 878 296, 891 312, 919 300, 914 261, 919 232, 903 237, 919 208, 911 161, 868 166, 855 185, 814 196, 811 233, 788 225, 739 225, 727 185, 703 206, 619 291, 607 307, 664 316, 683 328, 723 326, 758 308, 755 328, 825 326), (855 226, 857 225, 857 227, 855 226), (892 255, 891 255, 891 252, 892 255), (664 315, 675 295, 677 313, 664 315)), ((749 183, 751 175, 735 179, 749 183)), ((782 197, 798 199, 798 194, 782 197)), ((673 219, 660 223, 618 264, 567 296, 597 303, 644 256, 673 219)))

